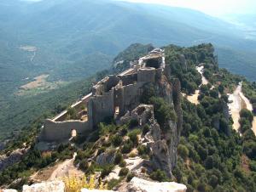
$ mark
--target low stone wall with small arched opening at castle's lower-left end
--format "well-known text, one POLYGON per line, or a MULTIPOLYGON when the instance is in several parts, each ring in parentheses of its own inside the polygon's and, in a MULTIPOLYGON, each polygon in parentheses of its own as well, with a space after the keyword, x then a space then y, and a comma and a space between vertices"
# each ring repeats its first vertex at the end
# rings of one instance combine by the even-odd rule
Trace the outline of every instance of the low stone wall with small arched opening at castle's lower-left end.
POLYGON ((44 128, 39 136, 40 141, 55 142, 71 138, 71 133, 84 133, 90 130, 89 121, 52 121, 45 120, 44 128))

